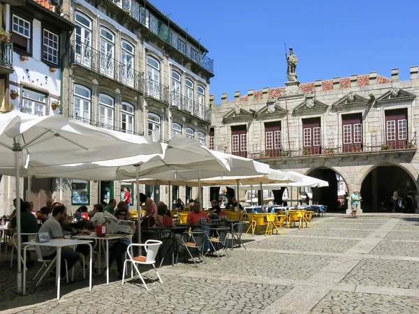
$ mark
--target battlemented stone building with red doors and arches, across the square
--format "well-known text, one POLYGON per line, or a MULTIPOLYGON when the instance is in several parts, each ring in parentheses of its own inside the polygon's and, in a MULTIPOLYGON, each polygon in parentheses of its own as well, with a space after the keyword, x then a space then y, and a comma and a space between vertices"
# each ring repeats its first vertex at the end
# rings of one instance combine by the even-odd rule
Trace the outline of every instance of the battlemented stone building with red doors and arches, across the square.
MULTIPOLYGON (((349 195, 360 190, 364 211, 391 210, 396 188, 402 197, 418 190, 418 69, 406 81, 393 69, 390 77, 373 72, 236 91, 220 105, 212 98, 211 147, 329 181, 330 188, 314 189, 313 201, 330 209, 337 209, 340 177, 349 195)), ((295 188, 294 202, 306 191, 295 188)))

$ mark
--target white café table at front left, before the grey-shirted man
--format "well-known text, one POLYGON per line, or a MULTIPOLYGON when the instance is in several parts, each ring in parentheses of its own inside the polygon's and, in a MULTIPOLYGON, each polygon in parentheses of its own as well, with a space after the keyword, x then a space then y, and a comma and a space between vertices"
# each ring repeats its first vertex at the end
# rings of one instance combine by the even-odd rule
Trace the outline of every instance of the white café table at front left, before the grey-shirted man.
MULTIPOLYGON (((48 242, 39 243, 36 241, 24 242, 22 246, 24 246, 23 251, 23 294, 25 294, 26 290, 26 259, 27 259, 27 248, 29 246, 54 246, 57 248, 57 259, 56 262, 56 270, 55 274, 57 279, 57 300, 59 300, 59 288, 61 282, 61 248, 64 246, 76 246, 79 244, 87 244, 90 248, 90 264, 89 264, 89 290, 91 291, 91 267, 92 267, 92 250, 91 250, 91 243, 92 241, 82 241, 82 240, 72 240, 72 239, 52 239, 48 242)), ((50 268, 50 267, 48 267, 50 268)))

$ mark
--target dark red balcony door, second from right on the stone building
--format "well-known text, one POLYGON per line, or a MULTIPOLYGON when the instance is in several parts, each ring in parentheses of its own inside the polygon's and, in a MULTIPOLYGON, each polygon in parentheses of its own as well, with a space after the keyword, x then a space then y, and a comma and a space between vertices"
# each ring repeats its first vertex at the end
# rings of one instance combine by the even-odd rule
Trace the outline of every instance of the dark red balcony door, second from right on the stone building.
POLYGON ((342 151, 362 151, 362 114, 342 114, 342 151))

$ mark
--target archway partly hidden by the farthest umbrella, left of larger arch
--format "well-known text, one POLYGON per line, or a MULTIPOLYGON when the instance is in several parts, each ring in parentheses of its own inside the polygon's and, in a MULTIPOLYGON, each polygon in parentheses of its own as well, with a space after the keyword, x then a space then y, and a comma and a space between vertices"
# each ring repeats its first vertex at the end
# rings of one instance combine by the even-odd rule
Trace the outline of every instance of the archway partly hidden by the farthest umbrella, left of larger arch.
POLYGON ((346 193, 348 186, 340 174, 328 167, 318 167, 307 173, 308 176, 328 181, 329 186, 323 188, 311 189, 311 202, 328 206, 328 211, 336 211, 346 209, 346 204, 339 207, 338 198, 341 197, 342 202, 346 202, 346 193))

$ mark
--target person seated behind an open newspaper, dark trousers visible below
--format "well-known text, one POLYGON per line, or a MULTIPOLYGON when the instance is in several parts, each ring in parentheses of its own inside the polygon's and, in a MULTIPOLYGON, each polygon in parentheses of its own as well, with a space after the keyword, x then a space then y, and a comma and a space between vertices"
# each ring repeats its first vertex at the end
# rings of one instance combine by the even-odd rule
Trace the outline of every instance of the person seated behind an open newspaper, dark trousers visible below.
MULTIPOLYGON (((115 217, 118 220, 127 220, 128 219, 128 209, 126 207, 121 207, 115 211, 115 217)), ((133 225, 133 234, 135 232, 135 225, 133 225)), ((114 241, 109 241, 112 244, 110 248, 110 255, 109 255, 109 267, 112 266, 114 260, 117 260, 117 269, 118 269, 118 278, 122 279, 122 271, 124 271, 124 258, 126 248, 131 244, 131 239, 126 237, 122 239, 117 239, 114 241)))

